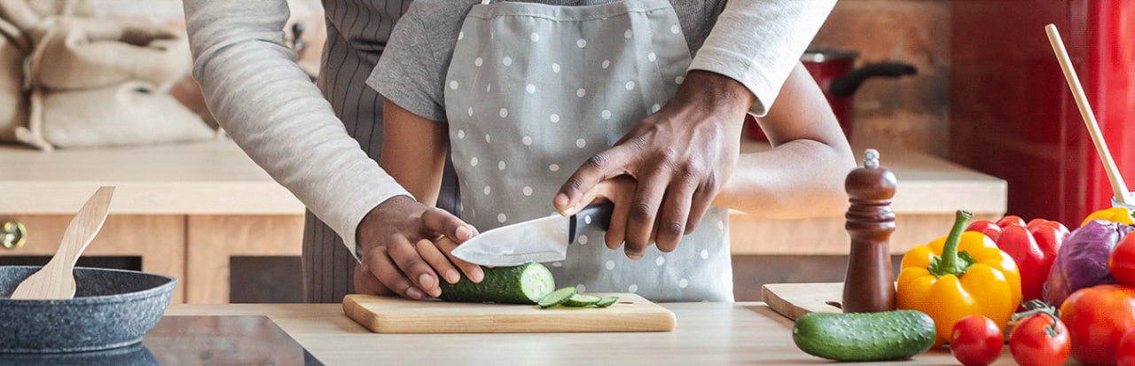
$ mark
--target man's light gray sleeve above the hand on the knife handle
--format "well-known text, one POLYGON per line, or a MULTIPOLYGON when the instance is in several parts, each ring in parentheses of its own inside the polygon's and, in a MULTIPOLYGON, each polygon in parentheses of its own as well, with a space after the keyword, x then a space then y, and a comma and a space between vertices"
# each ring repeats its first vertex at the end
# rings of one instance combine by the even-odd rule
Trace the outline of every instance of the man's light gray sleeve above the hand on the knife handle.
POLYGON ((690 70, 713 71, 754 94, 764 116, 835 0, 729 1, 690 70))

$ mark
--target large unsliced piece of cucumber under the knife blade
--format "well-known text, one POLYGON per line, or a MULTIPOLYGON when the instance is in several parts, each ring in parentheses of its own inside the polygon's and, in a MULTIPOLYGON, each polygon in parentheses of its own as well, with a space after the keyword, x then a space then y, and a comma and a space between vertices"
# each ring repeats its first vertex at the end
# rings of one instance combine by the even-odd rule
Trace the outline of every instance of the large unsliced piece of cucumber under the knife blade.
POLYGON ((536 304, 556 288, 548 267, 539 263, 501 266, 485 270, 485 279, 473 283, 462 276, 457 283, 442 281, 442 296, 446 301, 536 304))

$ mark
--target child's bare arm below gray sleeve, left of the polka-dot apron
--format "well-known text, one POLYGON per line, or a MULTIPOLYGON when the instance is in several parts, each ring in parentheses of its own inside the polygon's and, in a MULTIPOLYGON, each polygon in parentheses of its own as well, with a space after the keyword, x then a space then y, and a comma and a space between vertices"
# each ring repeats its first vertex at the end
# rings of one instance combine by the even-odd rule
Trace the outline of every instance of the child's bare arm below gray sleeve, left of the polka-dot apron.
POLYGON ((379 165, 419 202, 435 205, 445 167, 446 125, 421 118, 388 100, 382 104, 382 125, 379 165))

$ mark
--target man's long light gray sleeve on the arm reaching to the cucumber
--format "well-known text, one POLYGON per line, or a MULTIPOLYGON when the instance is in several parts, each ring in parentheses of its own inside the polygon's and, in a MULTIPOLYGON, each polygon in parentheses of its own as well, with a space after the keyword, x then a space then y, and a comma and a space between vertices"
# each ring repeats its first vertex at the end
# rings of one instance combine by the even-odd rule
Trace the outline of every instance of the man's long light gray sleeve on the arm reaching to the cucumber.
POLYGON ((406 194, 347 135, 283 43, 284 0, 185 0, 193 75, 233 139, 352 249, 362 218, 406 194))

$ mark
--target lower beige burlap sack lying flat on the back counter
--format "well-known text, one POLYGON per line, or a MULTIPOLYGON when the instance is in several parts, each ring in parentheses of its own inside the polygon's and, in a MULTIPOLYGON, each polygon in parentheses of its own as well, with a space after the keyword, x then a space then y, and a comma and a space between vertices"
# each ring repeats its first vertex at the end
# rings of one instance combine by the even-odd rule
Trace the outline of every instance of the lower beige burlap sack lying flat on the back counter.
POLYGON ((36 93, 33 100, 34 109, 39 111, 33 112, 32 126, 23 130, 20 139, 44 150, 52 146, 145 145, 213 137, 213 130, 197 114, 144 82, 36 93))

